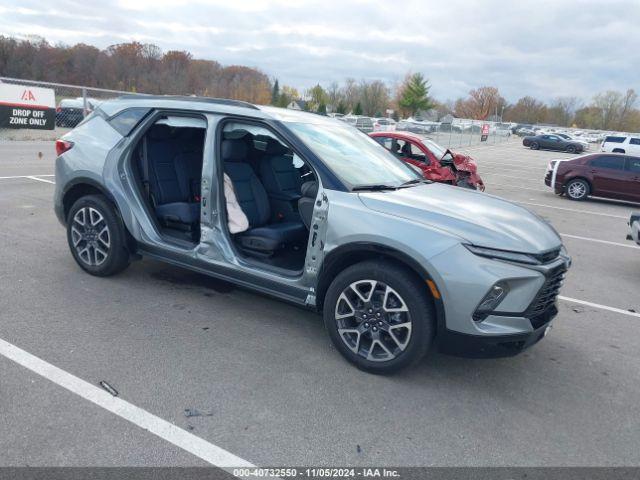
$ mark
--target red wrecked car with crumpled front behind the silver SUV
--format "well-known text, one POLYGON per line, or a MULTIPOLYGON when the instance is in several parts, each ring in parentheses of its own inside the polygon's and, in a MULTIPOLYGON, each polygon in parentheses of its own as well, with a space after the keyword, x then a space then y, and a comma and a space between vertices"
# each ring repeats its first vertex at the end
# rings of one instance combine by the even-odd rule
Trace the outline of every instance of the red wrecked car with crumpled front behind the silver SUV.
POLYGON ((422 170, 427 180, 484 191, 478 166, 468 155, 409 132, 375 132, 370 136, 396 157, 422 170))

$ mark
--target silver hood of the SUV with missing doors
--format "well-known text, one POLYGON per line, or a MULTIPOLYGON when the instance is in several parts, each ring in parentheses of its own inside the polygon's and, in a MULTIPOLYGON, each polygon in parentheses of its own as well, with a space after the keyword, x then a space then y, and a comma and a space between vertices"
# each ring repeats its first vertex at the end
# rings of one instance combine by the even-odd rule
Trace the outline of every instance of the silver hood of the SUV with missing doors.
POLYGON ((540 253, 562 244, 553 227, 526 208, 466 188, 431 183, 359 196, 371 210, 435 227, 477 246, 540 253))

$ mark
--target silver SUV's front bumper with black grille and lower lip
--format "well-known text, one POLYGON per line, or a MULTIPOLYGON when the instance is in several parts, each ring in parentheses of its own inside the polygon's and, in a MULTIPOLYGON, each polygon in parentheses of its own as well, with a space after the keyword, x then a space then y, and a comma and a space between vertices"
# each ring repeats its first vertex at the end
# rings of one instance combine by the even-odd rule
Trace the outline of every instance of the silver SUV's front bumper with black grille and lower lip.
POLYGON ((571 265, 570 257, 561 252, 542 265, 524 266, 482 258, 468 250, 447 253, 446 258, 431 259, 439 272, 447 274, 443 282, 437 282, 444 317, 436 337, 441 352, 470 357, 509 356, 542 338, 558 313, 556 300, 571 265), (482 298, 498 281, 509 285, 508 295, 486 318, 474 319, 482 298))

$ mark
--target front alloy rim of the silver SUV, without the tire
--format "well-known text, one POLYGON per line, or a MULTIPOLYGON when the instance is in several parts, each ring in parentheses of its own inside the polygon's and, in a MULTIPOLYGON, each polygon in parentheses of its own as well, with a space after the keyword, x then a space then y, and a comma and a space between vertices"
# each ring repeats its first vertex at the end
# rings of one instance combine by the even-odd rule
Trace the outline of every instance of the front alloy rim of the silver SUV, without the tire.
POLYGON ((359 280, 336 303, 338 335, 357 355, 374 362, 393 360, 411 339, 411 315, 403 298, 377 280, 359 280))

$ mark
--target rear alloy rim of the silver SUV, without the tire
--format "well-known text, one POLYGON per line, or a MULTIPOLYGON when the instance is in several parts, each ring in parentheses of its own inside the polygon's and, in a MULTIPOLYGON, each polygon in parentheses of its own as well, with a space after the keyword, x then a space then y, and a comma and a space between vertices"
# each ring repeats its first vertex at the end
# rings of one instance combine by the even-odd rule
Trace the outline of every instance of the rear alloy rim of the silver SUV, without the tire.
POLYGON ((95 208, 83 207, 76 212, 71 224, 71 240, 78 258, 87 265, 102 265, 109 256, 109 227, 95 208))

